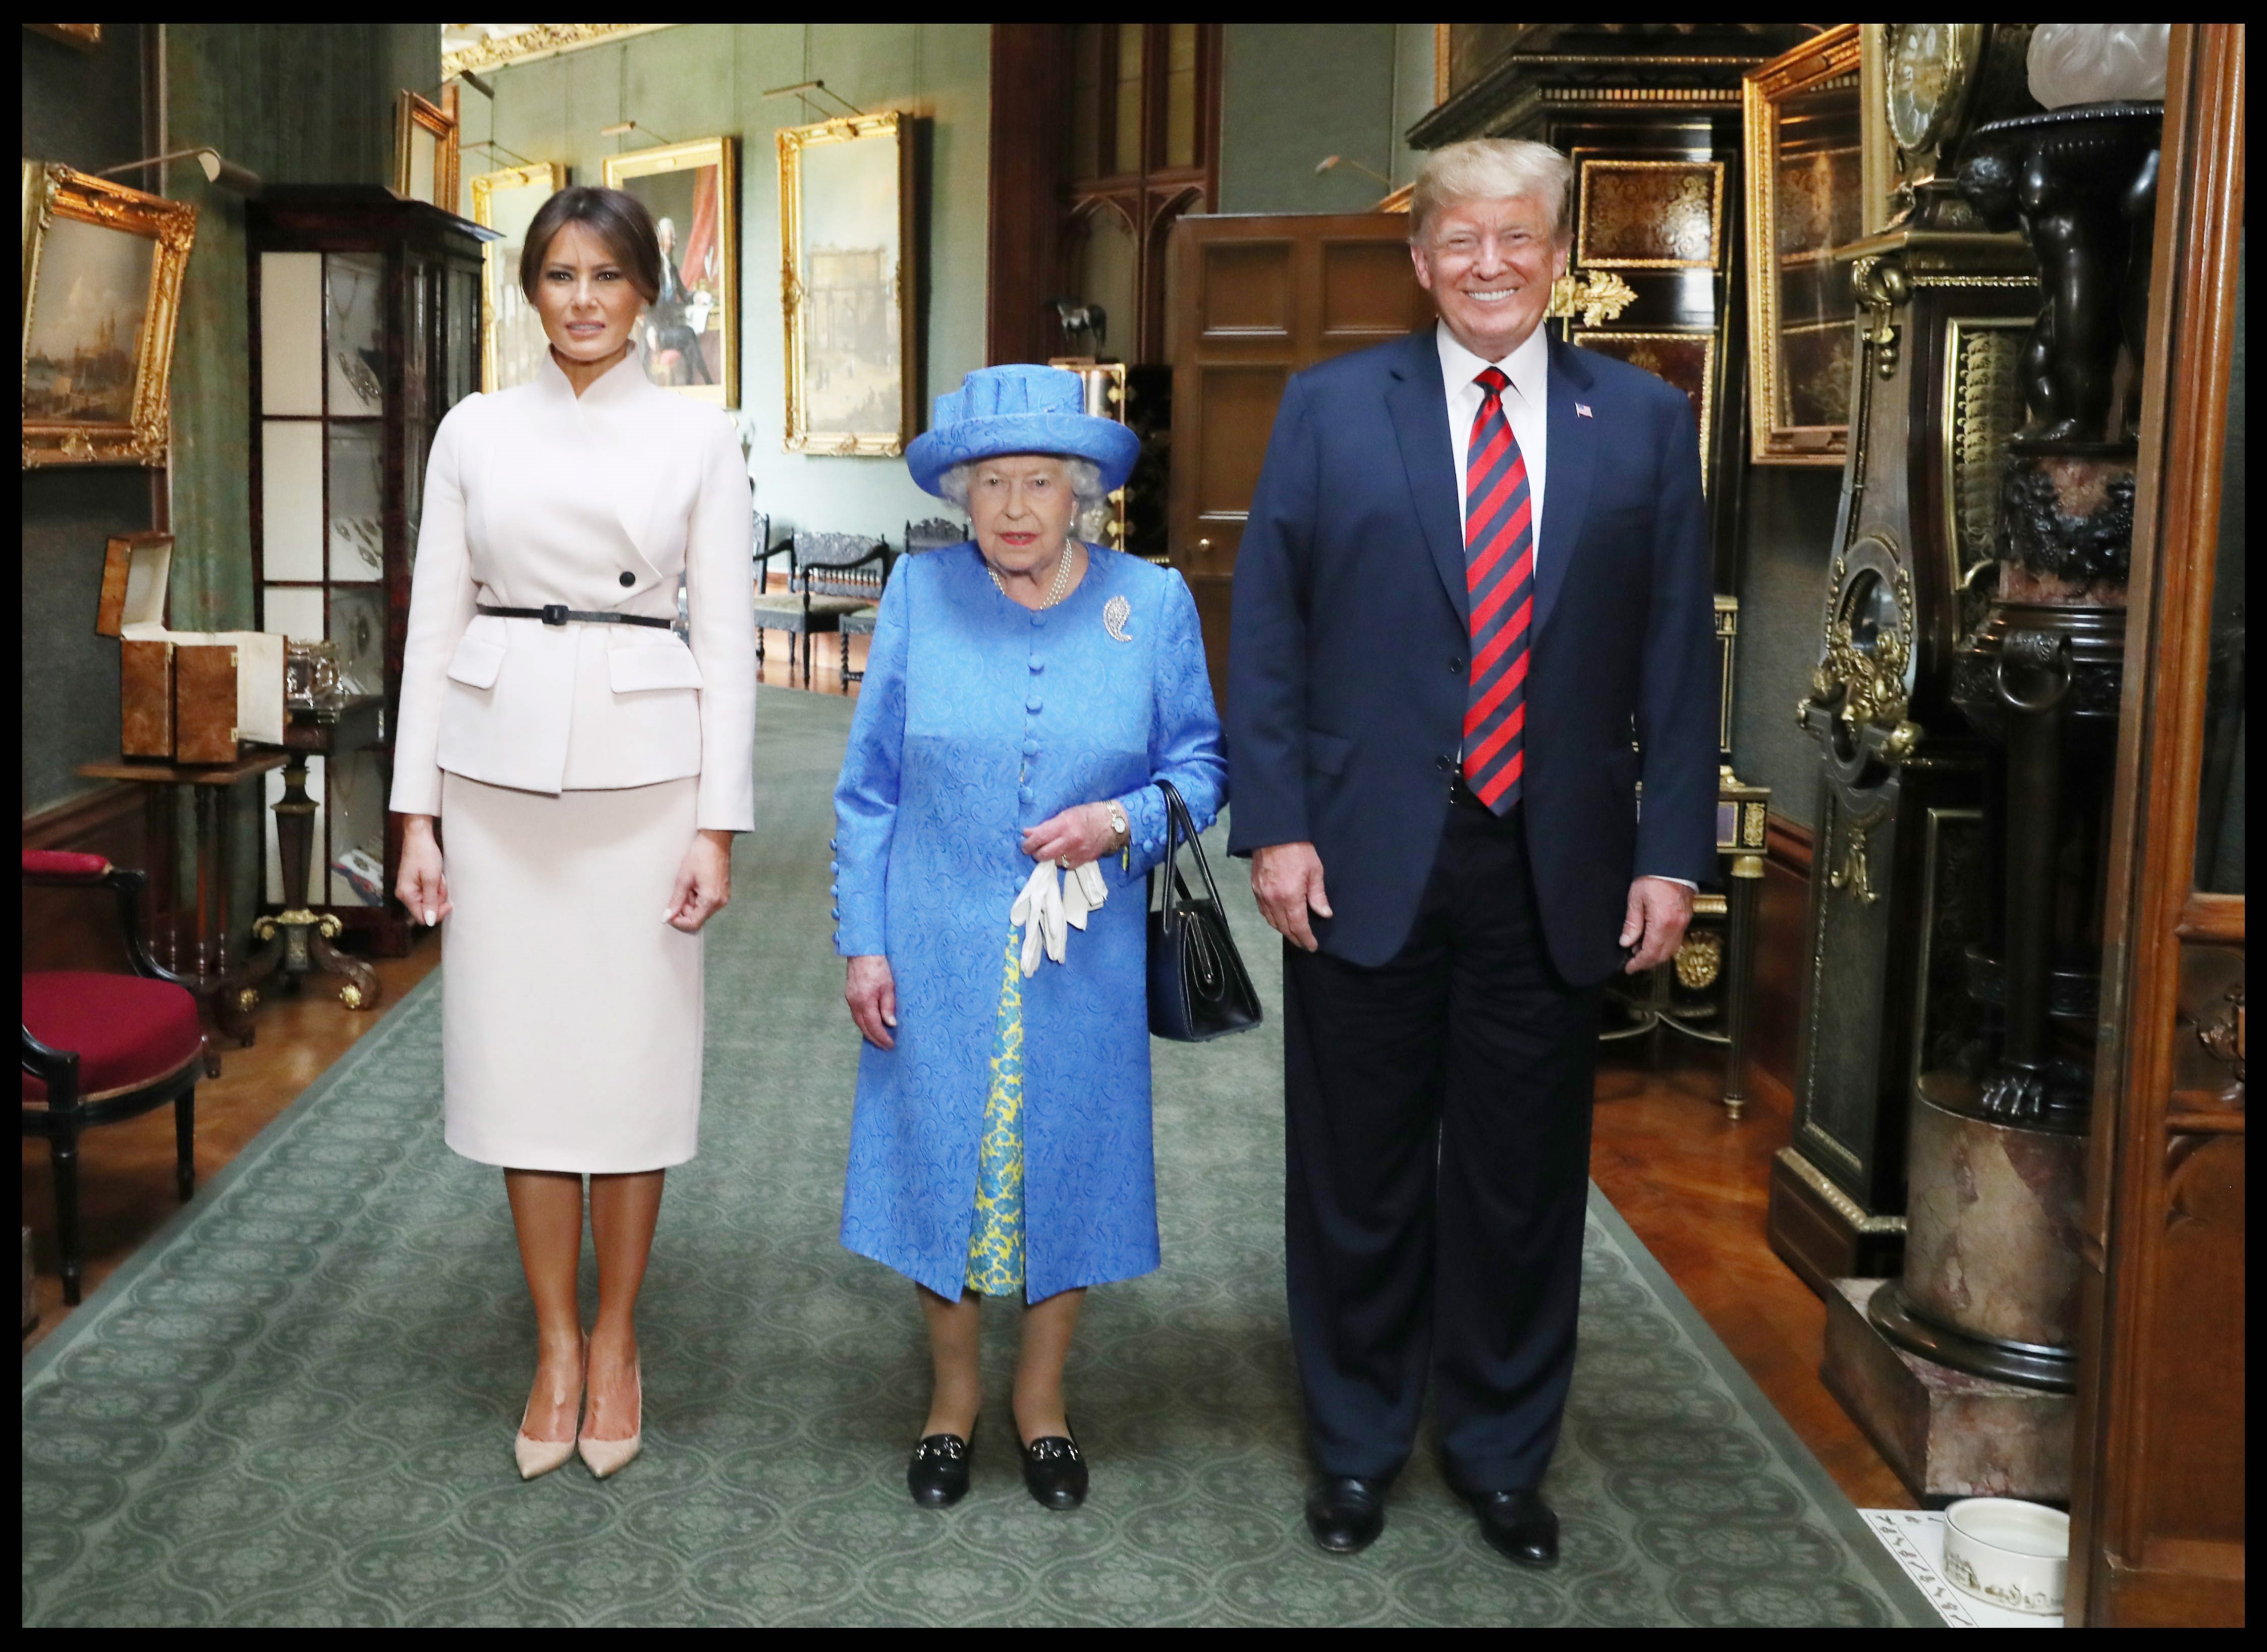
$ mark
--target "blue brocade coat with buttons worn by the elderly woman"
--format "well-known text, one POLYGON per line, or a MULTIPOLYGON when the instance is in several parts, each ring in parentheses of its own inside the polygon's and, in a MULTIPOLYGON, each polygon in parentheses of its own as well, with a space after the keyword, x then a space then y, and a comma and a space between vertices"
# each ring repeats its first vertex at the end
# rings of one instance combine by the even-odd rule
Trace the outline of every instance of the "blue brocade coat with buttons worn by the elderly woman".
POLYGON ((948 1301, 970 1262, 1002 945, 1031 875, 1022 829, 1109 798, 1134 838, 1124 861, 1102 859, 1109 902, 1070 931, 1063 963, 1022 981, 1025 1296, 1158 1264, 1156 780, 1179 786, 1199 827, 1226 798, 1179 573, 1088 546, 1079 587, 1031 612, 991 582, 973 542, 898 562, 834 789, 834 950, 884 954, 898 983, 898 1047, 859 1051, 841 1242, 948 1301))

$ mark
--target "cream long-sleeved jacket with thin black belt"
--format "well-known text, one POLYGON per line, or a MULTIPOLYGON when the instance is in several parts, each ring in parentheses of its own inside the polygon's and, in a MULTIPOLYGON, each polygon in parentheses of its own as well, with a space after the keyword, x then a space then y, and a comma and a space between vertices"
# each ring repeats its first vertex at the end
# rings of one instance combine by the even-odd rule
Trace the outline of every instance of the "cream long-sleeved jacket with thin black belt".
POLYGON ((632 354, 580 397, 542 374, 465 397, 433 433, 401 650, 399 814, 440 814, 442 770, 517 791, 701 777, 703 829, 755 825, 748 469, 714 408, 632 354), (676 619, 544 625, 544 607, 676 619))

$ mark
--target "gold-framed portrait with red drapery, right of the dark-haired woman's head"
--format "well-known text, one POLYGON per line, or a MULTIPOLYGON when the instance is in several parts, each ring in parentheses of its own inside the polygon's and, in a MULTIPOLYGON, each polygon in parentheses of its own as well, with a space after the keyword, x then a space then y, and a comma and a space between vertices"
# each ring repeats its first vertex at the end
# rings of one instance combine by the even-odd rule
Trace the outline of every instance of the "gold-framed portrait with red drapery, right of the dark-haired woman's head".
POLYGON ((632 338, 646 378, 719 408, 739 406, 737 138, 696 138, 605 159, 605 186, 653 213, 662 295, 632 338))

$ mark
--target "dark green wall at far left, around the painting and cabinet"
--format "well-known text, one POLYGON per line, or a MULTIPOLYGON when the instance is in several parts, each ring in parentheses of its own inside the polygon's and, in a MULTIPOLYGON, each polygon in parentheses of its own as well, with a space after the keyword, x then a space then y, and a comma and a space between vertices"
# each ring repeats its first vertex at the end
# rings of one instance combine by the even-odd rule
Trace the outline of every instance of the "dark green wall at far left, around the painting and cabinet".
MULTIPOLYGON (((104 25, 91 52, 23 36, 23 154, 86 172, 163 147, 211 145, 274 184, 383 184, 394 91, 440 82, 433 23, 104 25), (145 50, 145 45, 150 50, 145 50), (165 61, 165 134, 145 129, 143 66, 165 61)), ((156 102, 156 100, 152 100, 156 102)), ((152 111, 154 113, 154 111, 152 111)), ((23 478, 23 811, 88 782, 118 755, 118 644, 95 637, 102 542, 147 528, 172 499, 181 628, 252 621, 247 503, 245 208, 193 163, 129 177, 197 206, 172 363, 172 467, 63 467, 23 478)), ((249 834, 247 834, 249 836, 249 834)))

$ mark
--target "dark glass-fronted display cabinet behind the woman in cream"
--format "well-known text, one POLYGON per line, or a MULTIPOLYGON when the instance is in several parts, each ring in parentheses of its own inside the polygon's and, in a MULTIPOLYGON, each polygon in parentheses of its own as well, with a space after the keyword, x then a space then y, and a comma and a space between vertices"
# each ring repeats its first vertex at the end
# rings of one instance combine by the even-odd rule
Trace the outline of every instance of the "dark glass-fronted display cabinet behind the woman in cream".
MULTIPOLYGON (((336 648, 317 705, 379 696, 374 739, 297 750, 270 802, 313 802, 308 906, 324 934, 408 950, 385 811, 410 562, 433 428, 481 383, 481 242, 494 231, 374 186, 270 186, 245 211, 252 297, 256 625, 336 648), (336 920, 336 922, 329 922, 336 920)), ((324 650, 329 653, 329 650, 324 650)), ((297 743, 295 743, 297 746, 297 743)), ((263 904, 283 904, 268 811, 263 904)))

